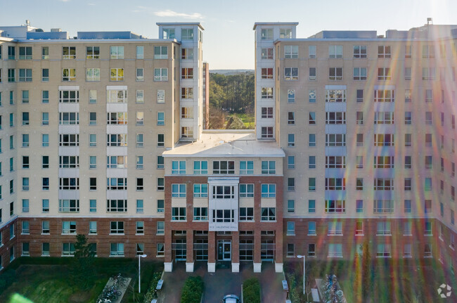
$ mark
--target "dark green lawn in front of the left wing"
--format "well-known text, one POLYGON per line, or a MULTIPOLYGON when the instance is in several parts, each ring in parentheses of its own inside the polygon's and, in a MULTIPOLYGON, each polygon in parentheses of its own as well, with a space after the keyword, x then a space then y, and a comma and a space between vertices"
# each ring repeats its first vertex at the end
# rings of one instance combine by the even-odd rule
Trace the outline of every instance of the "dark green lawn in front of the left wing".
POLYGON ((94 275, 88 290, 80 290, 69 278, 67 258, 19 258, 11 264, 16 271, 15 282, 0 294, 0 302, 9 302, 11 295, 18 293, 34 303, 79 303, 95 302, 110 276, 121 273, 132 278, 122 302, 143 302, 143 295, 150 287, 154 272, 162 272, 163 265, 157 262, 141 262, 141 290, 138 294, 138 261, 136 259, 96 259, 94 275), (58 264, 58 265, 53 265, 58 264), (135 299, 134 299, 135 297, 135 299))

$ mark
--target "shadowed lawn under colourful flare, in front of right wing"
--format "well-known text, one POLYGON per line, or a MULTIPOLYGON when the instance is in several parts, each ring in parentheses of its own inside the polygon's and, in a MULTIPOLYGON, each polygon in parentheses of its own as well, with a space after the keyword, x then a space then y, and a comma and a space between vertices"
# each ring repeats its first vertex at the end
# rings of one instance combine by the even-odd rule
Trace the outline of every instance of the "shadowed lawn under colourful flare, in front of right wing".
MULTIPOLYGON (((325 278, 326 274, 337 276, 340 288, 345 293, 347 302, 361 302, 361 288, 354 285, 354 264, 350 261, 318 262, 307 259, 307 288, 316 288, 314 279, 325 278)), ((303 262, 285 263, 284 271, 291 292, 300 299, 292 303, 306 302, 302 297, 303 262), (294 285, 291 285, 294 284, 294 285)), ((435 259, 392 260, 376 259, 373 262, 371 301, 363 303, 429 303, 441 299, 437 289, 442 283, 457 290, 457 279, 453 273, 443 271, 435 259)), ((308 290, 309 291, 309 290, 308 290)), ((291 294, 292 295, 292 294, 291 294)), ((456 299, 456 293, 453 293, 456 299)), ((309 295, 311 299, 311 295, 309 295)), ((449 298, 451 299, 451 298, 449 298)), ((449 302, 452 301, 452 299, 449 302)))

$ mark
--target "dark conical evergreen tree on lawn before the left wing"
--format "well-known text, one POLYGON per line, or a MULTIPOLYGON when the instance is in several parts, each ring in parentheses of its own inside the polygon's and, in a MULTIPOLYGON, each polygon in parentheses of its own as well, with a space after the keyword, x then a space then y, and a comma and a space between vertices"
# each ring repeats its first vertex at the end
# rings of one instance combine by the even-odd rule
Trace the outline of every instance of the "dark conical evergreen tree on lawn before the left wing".
POLYGON ((75 285, 86 290, 91 286, 90 277, 93 276, 95 252, 87 237, 79 234, 76 236, 75 259, 72 262, 72 278, 75 285))

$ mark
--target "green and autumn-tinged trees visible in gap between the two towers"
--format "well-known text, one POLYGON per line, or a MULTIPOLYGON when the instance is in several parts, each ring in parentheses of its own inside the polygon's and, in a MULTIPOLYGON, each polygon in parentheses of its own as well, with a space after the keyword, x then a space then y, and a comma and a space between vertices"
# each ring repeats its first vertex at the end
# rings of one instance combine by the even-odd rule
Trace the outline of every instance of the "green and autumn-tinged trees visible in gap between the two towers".
POLYGON ((210 108, 224 112, 254 112, 254 72, 238 75, 210 73, 210 108))

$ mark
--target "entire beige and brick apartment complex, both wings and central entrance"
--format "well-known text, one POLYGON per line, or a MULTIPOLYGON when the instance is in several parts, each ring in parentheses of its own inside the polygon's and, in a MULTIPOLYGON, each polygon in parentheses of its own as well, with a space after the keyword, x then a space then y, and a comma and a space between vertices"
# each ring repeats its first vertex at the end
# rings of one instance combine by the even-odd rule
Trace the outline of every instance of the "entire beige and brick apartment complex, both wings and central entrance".
POLYGON ((203 28, 157 25, 0 27, 0 267, 71 256, 83 233, 98 257, 166 271, 282 271, 365 240, 454 268, 457 25, 297 39, 297 22, 255 23, 255 131, 203 130, 203 28))

